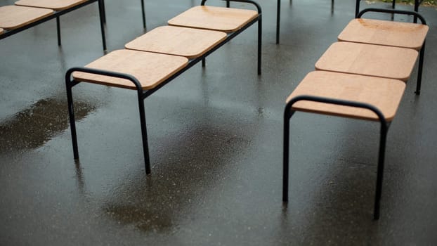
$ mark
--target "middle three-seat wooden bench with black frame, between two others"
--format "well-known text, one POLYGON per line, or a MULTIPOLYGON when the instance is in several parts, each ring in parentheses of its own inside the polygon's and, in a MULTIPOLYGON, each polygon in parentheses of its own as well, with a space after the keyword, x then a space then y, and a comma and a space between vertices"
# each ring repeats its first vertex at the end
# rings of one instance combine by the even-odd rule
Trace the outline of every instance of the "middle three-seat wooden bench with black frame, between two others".
POLYGON ((74 159, 79 160, 74 120, 72 87, 81 82, 136 90, 141 121, 145 172, 150 174, 150 157, 145 122, 144 100, 178 77, 238 34, 258 22, 258 64, 261 74, 261 7, 251 0, 233 0, 252 4, 257 11, 239 8, 195 6, 169 20, 169 26, 157 27, 112 51, 86 67, 72 67, 65 74, 67 103, 72 132, 74 159))

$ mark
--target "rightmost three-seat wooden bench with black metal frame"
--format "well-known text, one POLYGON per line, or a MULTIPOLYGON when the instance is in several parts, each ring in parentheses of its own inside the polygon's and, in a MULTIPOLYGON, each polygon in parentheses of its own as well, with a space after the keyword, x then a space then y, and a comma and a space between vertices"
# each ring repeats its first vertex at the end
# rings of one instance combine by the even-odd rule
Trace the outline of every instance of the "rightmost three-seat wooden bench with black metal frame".
MULTIPOLYGON (((412 11, 368 8, 366 12, 414 15, 412 11)), ((282 201, 288 201, 289 124, 294 112, 313 112, 376 121, 381 124, 374 219, 379 219, 386 136, 396 115, 417 57, 423 63, 423 50, 428 27, 424 24, 352 20, 287 98, 284 112, 282 201), (347 37, 347 38, 346 38, 347 37), (398 40, 402 39, 402 40, 398 40)), ((422 69, 419 69, 419 75, 422 69)), ((420 86, 418 82, 417 94, 420 86)))

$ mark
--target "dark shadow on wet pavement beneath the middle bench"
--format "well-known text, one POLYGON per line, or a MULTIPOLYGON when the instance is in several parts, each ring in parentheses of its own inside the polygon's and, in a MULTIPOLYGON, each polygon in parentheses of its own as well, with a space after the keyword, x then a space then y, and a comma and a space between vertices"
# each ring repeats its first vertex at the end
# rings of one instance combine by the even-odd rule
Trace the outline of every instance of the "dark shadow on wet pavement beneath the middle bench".
MULTIPOLYGON (((208 118, 208 113, 212 112, 202 116, 208 118)), ((251 144, 254 133, 244 129, 244 123, 228 124, 224 117, 212 124, 193 122, 176 136, 160 136, 159 143, 150 148, 160 149, 151 151, 152 174, 131 169, 119 177, 122 182, 112 184, 110 196, 103 198, 103 214, 145 232, 177 228, 178 221, 191 214, 190 209, 208 202, 205 196, 220 185, 222 176, 251 144)), ((148 128, 152 131, 153 127, 148 128)), ((86 189, 80 163, 76 168, 79 190, 86 189)))

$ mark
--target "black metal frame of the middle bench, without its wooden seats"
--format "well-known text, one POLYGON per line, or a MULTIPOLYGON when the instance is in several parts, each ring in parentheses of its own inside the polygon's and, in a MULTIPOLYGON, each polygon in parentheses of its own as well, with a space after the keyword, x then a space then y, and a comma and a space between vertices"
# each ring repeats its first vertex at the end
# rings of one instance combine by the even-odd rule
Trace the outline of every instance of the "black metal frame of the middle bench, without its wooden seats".
MULTIPOLYGON (((205 4, 207 0, 202 0, 202 6, 205 4)), ((121 79, 127 79, 130 82, 132 82, 136 86, 136 91, 138 95, 138 110, 140 114, 140 121, 141 121, 141 137, 143 141, 143 153, 144 153, 144 161, 145 161, 145 173, 150 174, 150 155, 148 150, 148 137, 147 137, 147 127, 145 122, 145 108, 144 108, 144 100, 148 96, 150 96, 155 91, 162 88, 162 86, 166 85, 167 83, 171 82, 174 78, 181 75, 183 72, 188 70, 190 67, 193 67, 195 64, 200 62, 202 60, 202 65, 204 65, 204 59, 209 56, 209 54, 216 51, 218 48, 223 46, 224 44, 228 43, 231 39, 236 37, 238 34, 252 26, 255 22, 258 22, 258 75, 261 75, 261 34, 262 34, 262 15, 261 15, 261 7, 259 4, 256 4, 256 2, 252 0, 222 0, 222 1, 236 1, 236 2, 242 2, 242 3, 248 3, 253 4, 256 6, 256 9, 258 11, 258 17, 252 20, 251 22, 247 23, 242 27, 240 30, 237 30, 235 32, 231 32, 227 34, 227 37, 225 40, 221 41, 221 43, 214 46, 214 48, 211 48, 211 50, 204 53, 202 56, 198 58, 194 58, 188 61, 188 64, 185 65, 181 70, 178 70, 174 75, 169 77, 168 79, 164 80, 164 82, 160 83, 159 85, 155 86, 155 88, 150 90, 143 90, 141 83, 133 77, 132 75, 119 73, 119 72, 111 72, 107 70, 98 70, 98 69, 92 69, 88 67, 72 67, 69 70, 67 70, 65 74, 65 86, 67 90, 67 103, 68 103, 68 113, 70 117, 70 128, 72 133, 72 145, 73 145, 73 155, 74 160, 79 160, 79 150, 77 146, 77 134, 76 134, 76 124, 74 120, 74 103, 73 103, 73 97, 72 97, 72 87, 76 86, 80 83, 80 81, 72 79, 72 72, 87 72, 95 75, 105 75, 110 77, 117 77, 121 79)))

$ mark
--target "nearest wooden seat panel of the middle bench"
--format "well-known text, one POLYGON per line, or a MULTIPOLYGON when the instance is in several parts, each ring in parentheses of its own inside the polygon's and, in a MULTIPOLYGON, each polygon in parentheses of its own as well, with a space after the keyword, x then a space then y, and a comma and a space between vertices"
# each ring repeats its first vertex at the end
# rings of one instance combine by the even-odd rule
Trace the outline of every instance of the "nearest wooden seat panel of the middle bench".
MULTIPOLYGON (((136 77, 143 89, 152 89, 165 79, 174 75, 187 65, 188 59, 181 56, 170 56, 144 51, 117 50, 108 53, 86 65, 86 67, 111 72, 122 72, 136 77)), ((104 84, 126 89, 136 89, 126 79, 93 75, 84 72, 73 72, 73 78, 81 82, 104 84)))

